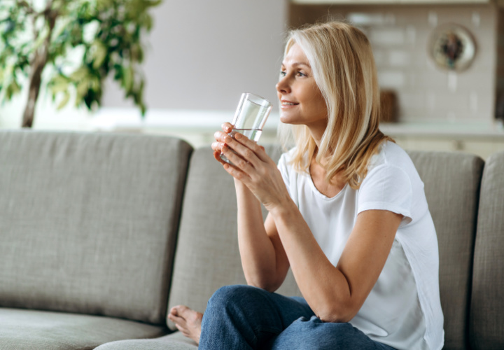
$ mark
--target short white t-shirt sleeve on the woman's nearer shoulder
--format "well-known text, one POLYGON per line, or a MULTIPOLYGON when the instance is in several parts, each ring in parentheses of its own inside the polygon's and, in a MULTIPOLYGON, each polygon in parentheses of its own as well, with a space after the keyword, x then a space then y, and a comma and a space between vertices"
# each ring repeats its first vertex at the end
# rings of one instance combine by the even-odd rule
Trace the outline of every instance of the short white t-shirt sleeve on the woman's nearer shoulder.
POLYGON ((388 210, 404 216, 401 226, 412 221, 412 183, 400 167, 380 165, 372 169, 360 185, 358 213, 388 210))

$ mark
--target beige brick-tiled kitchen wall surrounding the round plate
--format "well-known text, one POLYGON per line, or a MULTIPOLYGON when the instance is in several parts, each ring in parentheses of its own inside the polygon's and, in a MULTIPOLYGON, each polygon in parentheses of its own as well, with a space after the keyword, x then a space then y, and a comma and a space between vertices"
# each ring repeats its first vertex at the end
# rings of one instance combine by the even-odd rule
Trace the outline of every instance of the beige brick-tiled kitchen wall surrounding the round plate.
MULTIPOLYGON (((395 90, 401 122, 493 123, 496 101, 498 8, 475 6, 293 6, 293 25, 370 15, 370 38, 381 87, 395 90), (456 23, 475 38, 467 71, 437 68, 427 53, 435 27, 456 23)), ((500 40, 502 41, 502 39, 500 40)))

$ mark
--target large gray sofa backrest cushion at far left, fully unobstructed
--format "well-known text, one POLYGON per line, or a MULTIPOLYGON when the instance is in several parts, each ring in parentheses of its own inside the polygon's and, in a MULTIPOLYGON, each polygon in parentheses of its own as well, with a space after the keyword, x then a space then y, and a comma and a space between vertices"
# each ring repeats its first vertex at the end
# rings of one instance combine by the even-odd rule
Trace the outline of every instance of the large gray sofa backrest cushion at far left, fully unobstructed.
POLYGON ((165 323, 192 148, 0 132, 0 306, 165 323))

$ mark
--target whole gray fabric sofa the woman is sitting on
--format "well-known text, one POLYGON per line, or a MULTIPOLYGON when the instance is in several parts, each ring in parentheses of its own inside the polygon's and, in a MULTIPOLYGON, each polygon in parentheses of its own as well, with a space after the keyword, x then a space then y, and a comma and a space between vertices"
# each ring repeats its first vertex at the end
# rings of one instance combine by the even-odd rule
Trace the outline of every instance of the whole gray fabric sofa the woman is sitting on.
MULTIPOLYGON (((410 155, 439 239, 444 349, 504 349, 504 153, 410 155)), ((1 131, 0 242, 0 350, 196 349, 167 309, 245 283, 232 179, 171 137, 1 131)), ((279 293, 300 295, 292 275, 279 293)))

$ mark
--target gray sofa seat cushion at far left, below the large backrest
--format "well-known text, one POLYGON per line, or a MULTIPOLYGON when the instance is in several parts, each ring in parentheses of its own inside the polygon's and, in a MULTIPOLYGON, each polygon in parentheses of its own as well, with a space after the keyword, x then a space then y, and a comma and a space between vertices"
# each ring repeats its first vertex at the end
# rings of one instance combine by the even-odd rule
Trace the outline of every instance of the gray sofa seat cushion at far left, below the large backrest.
POLYGON ((120 318, 0 308, 0 350, 94 349, 118 339, 166 332, 161 326, 120 318))

